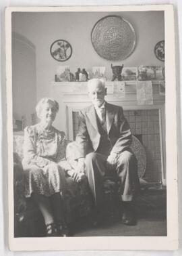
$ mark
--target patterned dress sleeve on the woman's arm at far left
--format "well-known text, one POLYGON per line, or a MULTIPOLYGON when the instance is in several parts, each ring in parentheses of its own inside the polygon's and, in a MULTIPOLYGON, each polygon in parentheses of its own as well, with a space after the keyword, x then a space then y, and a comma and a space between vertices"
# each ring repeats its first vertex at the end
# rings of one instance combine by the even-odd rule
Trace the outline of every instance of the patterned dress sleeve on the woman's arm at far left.
POLYGON ((36 133, 34 133, 32 127, 24 129, 24 159, 22 161, 24 169, 26 165, 36 165, 43 168, 51 163, 48 159, 36 155, 35 136, 36 133))

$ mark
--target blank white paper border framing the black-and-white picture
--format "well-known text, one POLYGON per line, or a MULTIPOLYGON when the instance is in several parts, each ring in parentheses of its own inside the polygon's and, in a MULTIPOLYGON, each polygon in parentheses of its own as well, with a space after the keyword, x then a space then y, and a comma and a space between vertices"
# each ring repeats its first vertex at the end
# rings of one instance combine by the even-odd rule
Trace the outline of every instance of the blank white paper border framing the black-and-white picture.
POLYGON ((177 119, 175 78, 175 32, 173 5, 128 5, 93 7, 9 7, 5 12, 6 81, 7 81, 7 145, 9 196, 9 248, 13 251, 33 250, 174 250, 178 248, 177 207, 177 119), (11 12, 138 12, 164 11, 166 68, 166 186, 167 236, 165 237, 13 237, 13 127, 12 127, 12 68, 11 12), (173 150, 171 150, 171 148, 173 150), (171 171, 173 170, 173 171, 171 171))

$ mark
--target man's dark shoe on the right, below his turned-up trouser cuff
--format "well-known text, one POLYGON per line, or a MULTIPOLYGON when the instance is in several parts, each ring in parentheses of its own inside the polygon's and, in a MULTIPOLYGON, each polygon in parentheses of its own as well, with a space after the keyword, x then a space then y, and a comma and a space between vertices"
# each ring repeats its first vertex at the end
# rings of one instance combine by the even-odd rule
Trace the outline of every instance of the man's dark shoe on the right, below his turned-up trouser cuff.
POLYGON ((122 223, 127 226, 135 226, 137 223, 137 217, 135 213, 135 207, 132 202, 123 202, 122 209, 122 223))

